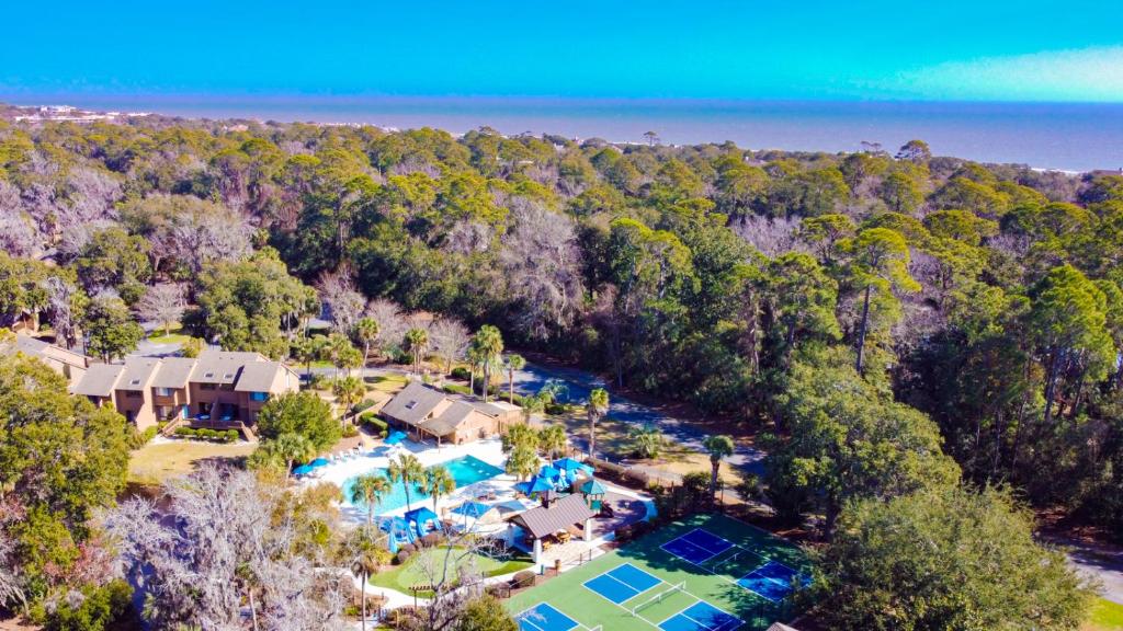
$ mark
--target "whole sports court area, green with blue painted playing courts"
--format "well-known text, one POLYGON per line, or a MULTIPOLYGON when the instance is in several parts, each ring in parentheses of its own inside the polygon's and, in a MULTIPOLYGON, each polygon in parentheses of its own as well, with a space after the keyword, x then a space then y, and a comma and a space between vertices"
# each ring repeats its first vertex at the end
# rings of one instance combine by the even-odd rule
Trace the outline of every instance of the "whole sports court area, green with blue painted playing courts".
POLYGON ((798 548, 723 515, 696 515, 508 602, 522 631, 755 631, 792 615, 811 566, 798 548))

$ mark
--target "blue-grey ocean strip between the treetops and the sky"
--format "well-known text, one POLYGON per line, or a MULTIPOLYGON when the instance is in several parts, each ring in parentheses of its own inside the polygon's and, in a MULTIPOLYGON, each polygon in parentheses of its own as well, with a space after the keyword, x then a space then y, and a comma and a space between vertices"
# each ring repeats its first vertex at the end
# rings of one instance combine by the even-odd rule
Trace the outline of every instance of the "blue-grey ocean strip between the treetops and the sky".
POLYGON ((877 143, 891 153, 912 138, 935 155, 1063 171, 1123 167, 1123 103, 833 102, 587 100, 283 95, 27 97, 17 104, 150 111, 192 118, 372 124, 464 132, 558 134, 642 143, 732 140, 751 149, 855 152, 877 143))

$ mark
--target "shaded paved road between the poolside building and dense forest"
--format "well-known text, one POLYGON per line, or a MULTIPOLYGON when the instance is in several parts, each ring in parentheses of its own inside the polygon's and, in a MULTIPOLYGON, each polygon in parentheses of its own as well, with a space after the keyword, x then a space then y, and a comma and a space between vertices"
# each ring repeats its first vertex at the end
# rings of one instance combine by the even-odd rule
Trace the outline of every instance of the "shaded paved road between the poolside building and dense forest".
MULTIPOLYGON (((705 451, 702 441, 710 436, 709 432, 627 396, 613 393, 604 379, 592 373, 578 368, 544 366, 529 362, 526 368, 514 373, 514 390, 520 394, 537 393, 550 382, 559 382, 566 387, 566 393, 559 397, 566 403, 583 404, 588 401, 588 393, 593 388, 605 387, 609 390, 609 415, 613 419, 636 426, 655 424, 672 440, 699 451, 705 451)), ((584 441, 579 437, 574 437, 574 440, 584 446, 584 441)), ((727 461, 742 470, 759 475, 764 456, 764 452, 758 449, 738 446, 733 456, 727 461)))

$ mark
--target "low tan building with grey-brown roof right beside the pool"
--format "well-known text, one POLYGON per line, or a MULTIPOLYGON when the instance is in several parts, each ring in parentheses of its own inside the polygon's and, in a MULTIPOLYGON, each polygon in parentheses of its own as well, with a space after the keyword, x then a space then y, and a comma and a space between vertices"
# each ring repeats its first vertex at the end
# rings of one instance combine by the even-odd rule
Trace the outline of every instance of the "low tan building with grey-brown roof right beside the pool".
POLYGON ((410 382, 381 410, 393 426, 407 429, 423 440, 438 445, 460 445, 503 431, 520 422, 522 409, 504 401, 484 403, 467 396, 446 394, 420 382, 410 382))

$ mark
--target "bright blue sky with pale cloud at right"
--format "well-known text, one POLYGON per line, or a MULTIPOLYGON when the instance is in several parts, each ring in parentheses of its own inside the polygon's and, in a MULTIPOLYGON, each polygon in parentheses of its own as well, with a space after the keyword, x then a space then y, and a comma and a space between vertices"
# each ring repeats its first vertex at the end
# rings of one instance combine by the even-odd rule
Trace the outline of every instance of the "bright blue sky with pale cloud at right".
POLYGON ((4 94, 1123 101, 1119 0, 4 7, 4 94))

